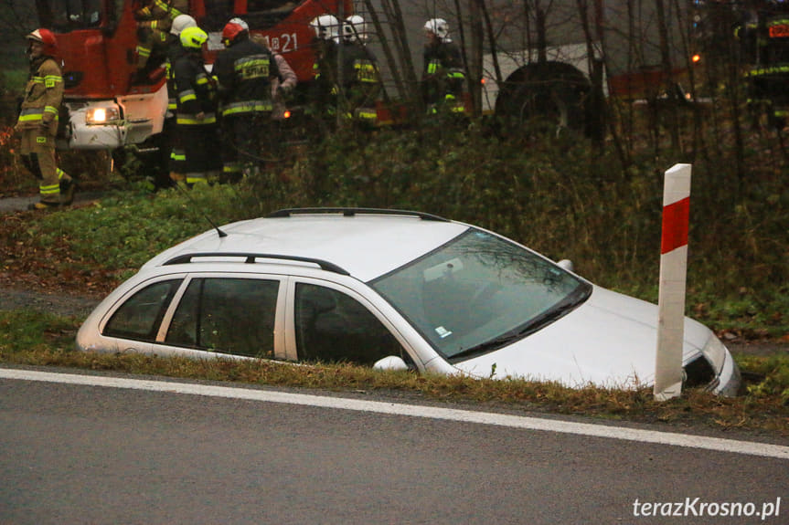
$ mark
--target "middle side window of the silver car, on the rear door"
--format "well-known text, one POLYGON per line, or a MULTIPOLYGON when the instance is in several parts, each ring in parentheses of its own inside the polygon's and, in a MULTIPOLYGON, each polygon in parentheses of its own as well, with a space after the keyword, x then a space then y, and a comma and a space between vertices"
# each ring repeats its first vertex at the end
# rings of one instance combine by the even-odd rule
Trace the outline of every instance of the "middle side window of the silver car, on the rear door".
POLYGON ((181 298, 165 342, 212 352, 273 357, 280 282, 257 278, 194 278, 181 298))

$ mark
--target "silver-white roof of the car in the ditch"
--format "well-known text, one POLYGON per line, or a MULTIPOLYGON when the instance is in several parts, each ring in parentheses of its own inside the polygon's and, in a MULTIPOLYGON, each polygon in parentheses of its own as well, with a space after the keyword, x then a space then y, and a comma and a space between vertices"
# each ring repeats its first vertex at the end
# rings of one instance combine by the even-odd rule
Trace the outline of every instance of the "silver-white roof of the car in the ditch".
POLYGON ((196 255, 238 254, 246 257, 240 262, 306 260, 368 281, 432 252, 469 227, 403 210, 287 209, 208 230, 165 250, 143 268, 186 263, 197 260, 196 255))

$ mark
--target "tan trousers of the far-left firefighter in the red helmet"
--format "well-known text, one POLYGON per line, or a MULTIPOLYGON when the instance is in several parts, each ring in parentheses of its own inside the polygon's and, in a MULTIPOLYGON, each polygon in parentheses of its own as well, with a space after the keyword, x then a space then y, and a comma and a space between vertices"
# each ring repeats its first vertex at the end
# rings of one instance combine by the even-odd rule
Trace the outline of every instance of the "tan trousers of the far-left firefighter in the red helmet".
POLYGON ((56 163, 55 136, 44 128, 33 128, 22 130, 21 139, 22 163, 38 179, 41 202, 48 205, 61 204, 60 186, 68 186, 71 177, 56 163))

